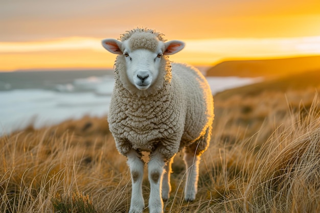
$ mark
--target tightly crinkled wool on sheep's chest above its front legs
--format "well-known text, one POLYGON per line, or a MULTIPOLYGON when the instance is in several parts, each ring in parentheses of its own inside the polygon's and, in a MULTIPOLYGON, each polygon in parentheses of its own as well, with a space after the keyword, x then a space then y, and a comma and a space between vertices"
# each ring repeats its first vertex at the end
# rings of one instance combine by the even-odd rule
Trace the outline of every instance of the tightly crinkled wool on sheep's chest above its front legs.
POLYGON ((121 154, 126 155, 130 149, 151 152, 160 143, 161 153, 169 157, 175 154, 172 151, 179 149, 177 140, 183 132, 183 125, 179 123, 184 123, 184 116, 168 110, 182 101, 172 96, 165 88, 154 96, 139 99, 129 92, 115 92, 112 98, 117 97, 117 102, 110 106, 113 113, 108 121, 121 154))

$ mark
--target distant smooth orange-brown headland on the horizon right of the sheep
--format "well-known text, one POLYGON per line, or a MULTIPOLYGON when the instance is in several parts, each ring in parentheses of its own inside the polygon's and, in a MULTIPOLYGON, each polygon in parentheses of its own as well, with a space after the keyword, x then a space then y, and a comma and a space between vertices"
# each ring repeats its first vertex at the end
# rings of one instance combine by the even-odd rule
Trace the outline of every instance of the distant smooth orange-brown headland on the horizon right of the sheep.
POLYGON ((210 68, 207 76, 273 77, 320 69, 320 56, 266 60, 224 61, 210 68))

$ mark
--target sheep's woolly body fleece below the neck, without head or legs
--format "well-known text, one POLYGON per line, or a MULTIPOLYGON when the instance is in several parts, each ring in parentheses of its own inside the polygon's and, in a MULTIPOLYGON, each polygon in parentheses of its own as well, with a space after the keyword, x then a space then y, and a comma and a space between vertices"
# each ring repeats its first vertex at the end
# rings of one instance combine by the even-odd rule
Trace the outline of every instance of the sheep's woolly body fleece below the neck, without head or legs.
POLYGON ((172 65, 171 84, 154 95, 138 97, 122 86, 113 91, 108 122, 121 154, 159 148, 170 159, 185 146, 198 146, 197 154, 208 148, 213 121, 211 92, 198 73, 190 73, 193 69, 172 65), (203 88, 195 89, 199 82, 203 88))

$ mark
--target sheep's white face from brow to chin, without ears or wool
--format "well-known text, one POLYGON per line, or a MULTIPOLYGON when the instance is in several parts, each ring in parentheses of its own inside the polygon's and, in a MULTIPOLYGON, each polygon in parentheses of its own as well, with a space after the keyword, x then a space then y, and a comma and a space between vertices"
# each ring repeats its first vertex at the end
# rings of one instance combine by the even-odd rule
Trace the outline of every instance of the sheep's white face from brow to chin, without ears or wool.
POLYGON ((158 76, 162 52, 154 53, 146 49, 130 52, 125 49, 123 55, 126 59, 126 71, 130 82, 140 90, 148 89, 158 76))

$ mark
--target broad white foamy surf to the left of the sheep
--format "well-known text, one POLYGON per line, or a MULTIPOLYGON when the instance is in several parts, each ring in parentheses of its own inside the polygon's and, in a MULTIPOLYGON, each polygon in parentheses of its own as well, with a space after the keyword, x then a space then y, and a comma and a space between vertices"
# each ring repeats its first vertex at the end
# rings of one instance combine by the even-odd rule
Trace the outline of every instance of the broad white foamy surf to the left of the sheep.
POLYGON ((49 90, 11 90, 0 92, 0 135, 80 119, 84 115, 104 116, 110 97, 94 93, 60 93, 49 90))

